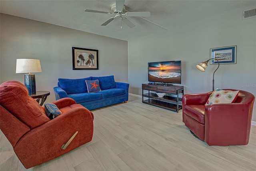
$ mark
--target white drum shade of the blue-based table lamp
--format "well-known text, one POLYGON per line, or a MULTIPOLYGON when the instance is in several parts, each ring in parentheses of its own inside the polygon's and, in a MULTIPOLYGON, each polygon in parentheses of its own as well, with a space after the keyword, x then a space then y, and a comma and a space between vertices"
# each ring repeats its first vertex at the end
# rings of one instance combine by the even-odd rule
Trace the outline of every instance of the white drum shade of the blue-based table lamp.
POLYGON ((34 73, 42 72, 40 60, 35 59, 17 59, 16 73, 34 73))

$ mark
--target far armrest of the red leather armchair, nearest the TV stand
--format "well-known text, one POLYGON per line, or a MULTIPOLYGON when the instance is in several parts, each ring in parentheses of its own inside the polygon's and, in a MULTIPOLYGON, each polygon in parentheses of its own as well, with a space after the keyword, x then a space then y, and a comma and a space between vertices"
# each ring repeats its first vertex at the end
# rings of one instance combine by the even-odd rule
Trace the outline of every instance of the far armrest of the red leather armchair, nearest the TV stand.
POLYGON ((182 96, 182 105, 204 105, 211 94, 185 94, 182 96))

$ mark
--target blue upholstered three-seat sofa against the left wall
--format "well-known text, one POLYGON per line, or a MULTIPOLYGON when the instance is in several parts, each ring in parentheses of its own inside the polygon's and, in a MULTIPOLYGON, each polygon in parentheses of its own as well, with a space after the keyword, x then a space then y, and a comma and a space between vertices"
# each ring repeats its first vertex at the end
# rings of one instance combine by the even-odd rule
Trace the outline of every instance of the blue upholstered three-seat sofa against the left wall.
POLYGON ((128 101, 129 84, 115 82, 114 76, 59 78, 58 81, 58 87, 53 88, 56 100, 70 97, 89 110, 128 101), (99 80, 101 91, 88 93, 86 80, 99 80))

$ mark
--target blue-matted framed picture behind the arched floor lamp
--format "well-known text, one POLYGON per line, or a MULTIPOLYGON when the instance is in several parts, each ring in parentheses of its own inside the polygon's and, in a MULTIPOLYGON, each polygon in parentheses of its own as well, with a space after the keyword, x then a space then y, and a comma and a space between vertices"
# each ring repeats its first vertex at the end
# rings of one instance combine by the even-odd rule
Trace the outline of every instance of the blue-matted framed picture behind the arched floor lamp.
POLYGON ((210 64, 236 64, 236 46, 210 49, 210 64), (217 60, 214 60, 217 59, 217 60))

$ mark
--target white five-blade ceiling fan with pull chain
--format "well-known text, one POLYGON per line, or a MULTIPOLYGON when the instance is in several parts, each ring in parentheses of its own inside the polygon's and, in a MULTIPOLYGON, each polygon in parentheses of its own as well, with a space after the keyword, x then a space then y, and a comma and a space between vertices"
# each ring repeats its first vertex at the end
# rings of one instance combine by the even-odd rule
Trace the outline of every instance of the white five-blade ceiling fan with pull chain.
POLYGON ((97 10, 88 10, 88 9, 85 9, 84 11, 85 12, 103 13, 103 14, 113 14, 114 13, 115 16, 109 18, 106 22, 101 24, 101 26, 106 26, 107 24, 112 22, 114 19, 121 18, 121 28, 122 28, 122 21, 124 21, 124 23, 130 28, 135 27, 135 25, 132 22, 130 22, 130 20, 128 20, 126 18, 126 16, 127 17, 149 17, 150 16, 150 12, 126 12, 125 6, 124 6, 124 0, 116 0, 116 3, 112 4, 111 11, 113 13, 97 11, 97 10))

